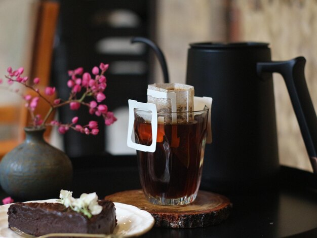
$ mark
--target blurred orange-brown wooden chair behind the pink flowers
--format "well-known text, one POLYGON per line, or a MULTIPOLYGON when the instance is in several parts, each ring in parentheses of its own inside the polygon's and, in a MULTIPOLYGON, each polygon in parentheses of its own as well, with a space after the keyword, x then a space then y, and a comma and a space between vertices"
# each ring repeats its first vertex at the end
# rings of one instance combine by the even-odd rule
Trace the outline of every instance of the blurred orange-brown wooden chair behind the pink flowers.
MULTIPOLYGON (((51 62, 53 53, 53 42, 57 17, 59 13, 59 3, 56 1, 39 1, 36 17, 36 27, 34 32, 34 42, 31 55, 31 69, 29 78, 39 77, 40 90, 50 85, 51 62)), ((35 95, 35 92, 26 90, 25 94, 35 95)), ((50 97, 53 101, 56 94, 50 97)), ((30 114, 21 105, 1 105, 0 106, 0 158, 24 140, 23 128, 30 125, 30 114), (11 135, 10 135, 11 134, 11 135)), ((45 116, 49 109, 45 102, 39 101, 35 114, 45 116)), ((51 115, 52 119, 54 114, 51 115)), ((45 138, 49 140, 51 128, 45 133, 45 138)))

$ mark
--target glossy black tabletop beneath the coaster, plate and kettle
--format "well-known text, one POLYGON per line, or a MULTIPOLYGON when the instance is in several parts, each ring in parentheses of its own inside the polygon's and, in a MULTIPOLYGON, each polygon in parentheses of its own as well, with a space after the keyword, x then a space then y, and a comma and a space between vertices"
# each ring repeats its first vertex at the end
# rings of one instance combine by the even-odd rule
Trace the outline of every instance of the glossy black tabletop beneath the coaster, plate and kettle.
MULTIPOLYGON (((100 198, 139 189, 135 156, 72 158, 71 190, 78 197, 96 191, 100 198)), ((226 195, 229 218, 216 226, 192 229, 153 227, 142 237, 317 237, 317 176, 281 166, 274 189, 226 195)), ((0 192, 1 198, 7 196, 0 192)))

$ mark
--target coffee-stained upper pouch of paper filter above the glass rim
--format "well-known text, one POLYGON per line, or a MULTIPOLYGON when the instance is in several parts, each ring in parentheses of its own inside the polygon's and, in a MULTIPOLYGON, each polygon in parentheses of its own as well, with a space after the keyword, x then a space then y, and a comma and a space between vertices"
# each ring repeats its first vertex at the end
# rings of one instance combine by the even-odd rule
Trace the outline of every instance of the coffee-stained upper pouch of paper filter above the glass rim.
POLYGON ((148 85, 147 89, 147 102, 154 103, 158 112, 181 112, 194 109, 193 86, 178 83, 152 84, 148 85), (176 101, 176 110, 173 108, 172 100, 176 101))

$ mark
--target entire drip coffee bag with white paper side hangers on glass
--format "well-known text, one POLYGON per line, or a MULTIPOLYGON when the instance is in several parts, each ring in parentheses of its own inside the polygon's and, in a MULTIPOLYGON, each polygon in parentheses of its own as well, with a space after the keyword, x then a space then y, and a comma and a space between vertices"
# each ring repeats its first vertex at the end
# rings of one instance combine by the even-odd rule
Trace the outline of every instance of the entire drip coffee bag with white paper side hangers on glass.
MULTIPOLYGON (((157 125, 193 122, 193 111, 209 108, 206 143, 212 142, 211 136, 211 105, 210 97, 194 97, 194 88, 184 84, 153 84, 148 85, 147 103, 129 99, 129 128, 127 145, 137 150, 154 152, 156 148, 157 125), (137 112, 139 111, 139 112, 137 112), (143 112, 142 112, 143 111, 143 112), (177 113, 176 113, 177 112, 177 113), (179 113, 184 112, 184 113, 179 113), (132 141, 135 118, 151 124, 151 145, 138 144, 132 141)), ((203 112, 202 112, 203 113, 203 112)), ((196 113, 196 115, 198 115, 196 113)), ((162 134, 162 131, 160 132, 162 134)), ((172 130, 172 147, 179 146, 177 127, 172 130)))

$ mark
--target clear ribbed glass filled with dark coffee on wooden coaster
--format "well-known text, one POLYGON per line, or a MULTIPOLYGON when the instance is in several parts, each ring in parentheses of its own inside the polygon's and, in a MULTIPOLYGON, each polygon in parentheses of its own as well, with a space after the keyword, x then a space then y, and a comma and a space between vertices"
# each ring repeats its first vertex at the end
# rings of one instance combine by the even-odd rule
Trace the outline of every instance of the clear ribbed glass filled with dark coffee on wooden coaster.
MULTIPOLYGON (((185 205, 195 200, 202 178, 208 110, 157 112, 155 151, 137 150, 140 182, 149 202, 185 205)), ((151 145, 151 118, 152 111, 134 108, 136 143, 151 145)))

